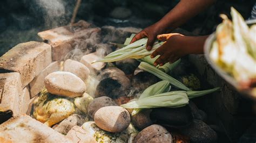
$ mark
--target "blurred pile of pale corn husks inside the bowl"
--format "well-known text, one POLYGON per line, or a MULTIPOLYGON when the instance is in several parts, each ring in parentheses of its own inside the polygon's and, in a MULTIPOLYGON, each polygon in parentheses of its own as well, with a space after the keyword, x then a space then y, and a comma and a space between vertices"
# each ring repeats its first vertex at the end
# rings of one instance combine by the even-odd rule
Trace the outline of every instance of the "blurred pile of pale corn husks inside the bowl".
POLYGON ((231 8, 232 21, 221 15, 210 59, 237 82, 256 78, 256 25, 248 27, 242 16, 231 8))

